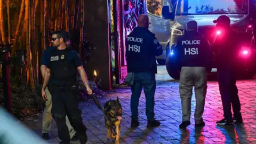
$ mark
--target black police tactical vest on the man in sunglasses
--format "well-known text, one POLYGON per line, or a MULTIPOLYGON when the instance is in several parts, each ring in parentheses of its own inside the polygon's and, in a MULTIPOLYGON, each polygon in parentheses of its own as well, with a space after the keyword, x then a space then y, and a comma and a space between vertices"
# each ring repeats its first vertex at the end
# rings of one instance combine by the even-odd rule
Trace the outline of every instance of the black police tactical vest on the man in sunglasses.
POLYGON ((53 85, 74 85, 77 82, 76 67, 74 60, 68 60, 71 48, 66 48, 61 53, 57 49, 52 50, 50 68, 53 85))

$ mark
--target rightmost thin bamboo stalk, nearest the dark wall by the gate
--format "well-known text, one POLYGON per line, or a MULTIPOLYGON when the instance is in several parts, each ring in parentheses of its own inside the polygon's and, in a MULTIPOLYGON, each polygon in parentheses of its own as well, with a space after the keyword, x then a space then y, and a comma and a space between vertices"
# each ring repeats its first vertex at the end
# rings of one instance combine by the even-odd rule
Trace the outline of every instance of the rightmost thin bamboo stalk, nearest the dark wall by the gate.
POLYGON ((80 27, 80 43, 79 43, 79 51, 78 54, 81 57, 82 53, 82 46, 83 46, 83 36, 84 36, 84 0, 81 0, 80 3, 80 22, 81 22, 81 27, 80 27))

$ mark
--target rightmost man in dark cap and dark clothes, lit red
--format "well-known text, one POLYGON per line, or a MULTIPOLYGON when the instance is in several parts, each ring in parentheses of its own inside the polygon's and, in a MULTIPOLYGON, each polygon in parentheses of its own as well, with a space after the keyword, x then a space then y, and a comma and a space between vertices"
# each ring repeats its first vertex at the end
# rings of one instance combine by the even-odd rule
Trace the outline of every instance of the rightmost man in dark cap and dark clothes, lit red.
POLYGON ((213 48, 217 59, 218 83, 224 113, 224 118, 218 121, 217 124, 233 125, 233 122, 242 123, 241 104, 235 76, 236 60, 239 54, 238 36, 231 29, 230 19, 226 15, 221 15, 213 22, 217 23, 216 27, 220 31, 220 34, 215 38, 213 48), (231 104, 234 117, 231 113, 231 104))

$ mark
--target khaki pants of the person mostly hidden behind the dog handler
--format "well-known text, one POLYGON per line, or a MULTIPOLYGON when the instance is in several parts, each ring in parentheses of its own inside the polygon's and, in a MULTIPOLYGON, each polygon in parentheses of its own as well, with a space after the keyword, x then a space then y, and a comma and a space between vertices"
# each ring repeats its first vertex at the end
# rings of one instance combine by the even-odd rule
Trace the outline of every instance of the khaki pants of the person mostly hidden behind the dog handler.
MULTIPOLYGON (((49 90, 46 88, 45 90, 47 101, 45 102, 45 108, 44 108, 44 113, 43 113, 43 127, 42 127, 42 133, 49 133, 52 127, 52 95, 49 92, 49 90)), ((74 128, 71 126, 68 117, 66 116, 66 124, 68 126, 68 131, 70 138, 73 138, 74 134, 76 131, 74 128)))

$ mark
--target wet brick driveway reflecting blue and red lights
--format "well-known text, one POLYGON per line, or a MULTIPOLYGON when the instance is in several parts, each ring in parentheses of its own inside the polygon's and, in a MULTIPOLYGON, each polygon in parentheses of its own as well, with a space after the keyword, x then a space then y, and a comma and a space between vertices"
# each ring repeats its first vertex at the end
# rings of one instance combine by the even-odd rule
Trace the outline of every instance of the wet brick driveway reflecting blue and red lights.
MULTIPOLYGON (((242 104, 242 116, 244 124, 234 126, 217 126, 215 122, 222 118, 222 104, 218 90, 218 83, 208 82, 206 95, 204 121, 202 128, 194 127, 195 95, 192 98, 191 125, 186 130, 179 129, 181 122, 181 100, 179 97, 179 82, 173 81, 163 66, 158 67, 157 90, 155 95, 155 115, 161 121, 161 126, 155 129, 147 129, 145 115, 145 95, 142 93, 139 104, 140 126, 131 129, 131 110, 129 87, 117 89, 108 93, 101 99, 101 105, 110 98, 121 100, 123 107, 123 120, 121 126, 121 143, 256 143, 256 79, 238 81, 239 98, 242 104)), ((87 143, 113 143, 106 139, 106 128, 102 112, 93 101, 81 103, 84 124, 88 128, 87 143)), ((41 133, 41 118, 38 121, 25 121, 30 129, 41 133)), ((59 143, 57 128, 52 127, 52 139, 49 143, 59 143)), ((74 141, 73 143, 79 143, 74 141)))

